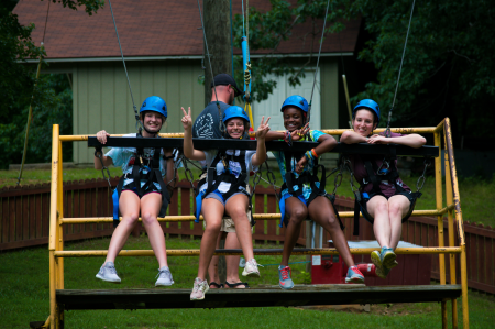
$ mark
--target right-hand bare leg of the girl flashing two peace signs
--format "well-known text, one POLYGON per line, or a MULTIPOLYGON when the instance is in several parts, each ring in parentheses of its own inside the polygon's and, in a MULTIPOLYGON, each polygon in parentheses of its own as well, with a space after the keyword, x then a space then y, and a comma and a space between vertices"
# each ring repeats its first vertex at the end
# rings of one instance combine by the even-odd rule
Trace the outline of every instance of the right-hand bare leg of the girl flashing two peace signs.
POLYGON ((253 234, 250 220, 248 219, 248 196, 239 194, 231 197, 226 204, 226 210, 235 223, 235 232, 245 260, 254 259, 253 234))

